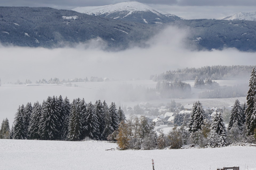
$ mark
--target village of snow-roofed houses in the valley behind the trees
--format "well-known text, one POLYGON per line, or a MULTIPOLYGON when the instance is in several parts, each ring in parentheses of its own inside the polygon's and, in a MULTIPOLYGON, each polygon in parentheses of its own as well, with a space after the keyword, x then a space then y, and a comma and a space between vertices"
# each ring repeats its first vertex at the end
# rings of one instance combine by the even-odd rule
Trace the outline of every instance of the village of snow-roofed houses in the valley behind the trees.
MULTIPOLYGON (((212 121, 213 117, 216 115, 217 112, 223 112, 224 109, 230 111, 233 105, 229 107, 212 107, 209 108, 207 106, 203 106, 204 111, 209 114, 209 120, 212 121)), ((148 102, 141 102, 131 107, 123 107, 125 114, 136 114, 136 115, 145 115, 148 123, 151 124, 155 122, 155 126, 162 126, 162 127, 172 127, 175 125, 175 115, 176 114, 188 114, 190 115, 191 110, 193 108, 193 104, 186 104, 181 105, 181 103, 175 103, 174 100, 171 100, 170 103, 167 104, 150 104, 148 102)))

